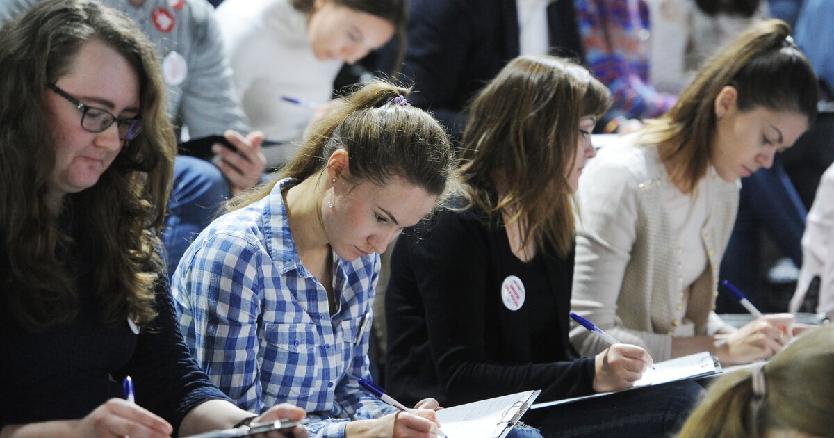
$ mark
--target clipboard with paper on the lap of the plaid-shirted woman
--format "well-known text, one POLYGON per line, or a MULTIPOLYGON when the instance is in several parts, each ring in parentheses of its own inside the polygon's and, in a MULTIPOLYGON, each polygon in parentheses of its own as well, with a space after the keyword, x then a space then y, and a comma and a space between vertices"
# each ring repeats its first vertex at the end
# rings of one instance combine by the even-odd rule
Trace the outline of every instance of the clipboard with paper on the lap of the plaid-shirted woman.
POLYGON ((502 395, 438 410, 435 415, 440 422, 440 430, 447 436, 504 438, 540 393, 540 390, 528 390, 502 395))

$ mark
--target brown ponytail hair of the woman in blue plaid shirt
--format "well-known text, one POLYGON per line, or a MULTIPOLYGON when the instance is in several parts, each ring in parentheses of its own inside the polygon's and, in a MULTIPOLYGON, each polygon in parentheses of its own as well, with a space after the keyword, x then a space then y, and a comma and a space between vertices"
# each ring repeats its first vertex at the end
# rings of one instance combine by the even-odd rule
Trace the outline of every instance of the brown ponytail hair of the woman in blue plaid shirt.
MULTIPOLYGON (((315 125, 294 158, 269 184, 231 199, 240 209, 269 195, 279 179, 321 174, 336 149, 349 157, 349 178, 383 186, 394 177, 425 189, 440 205, 450 192, 454 158, 440 123, 424 110, 394 102, 410 90, 381 80, 351 93, 315 125)), ((347 178, 347 175, 345 175, 347 178)))

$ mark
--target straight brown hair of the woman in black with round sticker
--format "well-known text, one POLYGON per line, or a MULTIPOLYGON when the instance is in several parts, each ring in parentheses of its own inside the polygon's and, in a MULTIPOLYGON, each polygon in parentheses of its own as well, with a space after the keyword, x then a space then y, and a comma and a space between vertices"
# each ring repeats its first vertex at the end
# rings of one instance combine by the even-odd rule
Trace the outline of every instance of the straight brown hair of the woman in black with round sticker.
POLYGON ((586 68, 547 55, 515 58, 475 96, 469 108, 460 160, 467 200, 524 226, 523 245, 548 245, 564 257, 575 236, 568 169, 577 158, 580 119, 599 118, 610 107, 610 92, 586 68), (505 178, 500 197, 493 180, 505 178))

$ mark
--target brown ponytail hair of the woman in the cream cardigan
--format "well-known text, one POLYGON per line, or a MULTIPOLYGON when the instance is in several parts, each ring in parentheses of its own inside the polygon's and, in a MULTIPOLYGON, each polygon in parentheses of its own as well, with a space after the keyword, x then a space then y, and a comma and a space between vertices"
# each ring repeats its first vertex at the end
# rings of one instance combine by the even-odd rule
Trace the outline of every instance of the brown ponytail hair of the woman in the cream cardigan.
POLYGON ((799 111, 816 119, 816 75, 789 38, 781 20, 758 23, 742 33, 701 68, 663 117, 650 120, 639 143, 661 144, 661 159, 674 163, 670 176, 692 193, 704 177, 713 154, 715 100, 730 85, 738 91, 738 108, 799 111))

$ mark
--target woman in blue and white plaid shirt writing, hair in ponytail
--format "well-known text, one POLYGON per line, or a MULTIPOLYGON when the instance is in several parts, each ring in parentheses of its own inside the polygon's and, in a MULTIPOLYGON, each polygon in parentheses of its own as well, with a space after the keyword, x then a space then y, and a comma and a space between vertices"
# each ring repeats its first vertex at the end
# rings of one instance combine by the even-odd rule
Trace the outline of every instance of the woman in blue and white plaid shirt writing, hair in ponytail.
POLYGON ((298 405, 319 420, 311 436, 437 430, 434 410, 399 414, 358 383, 369 378, 379 253, 439 204, 453 168, 443 128, 408 91, 378 82, 344 99, 173 275, 180 328, 214 383, 255 412, 298 405))

